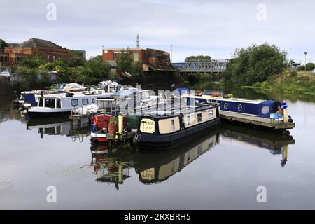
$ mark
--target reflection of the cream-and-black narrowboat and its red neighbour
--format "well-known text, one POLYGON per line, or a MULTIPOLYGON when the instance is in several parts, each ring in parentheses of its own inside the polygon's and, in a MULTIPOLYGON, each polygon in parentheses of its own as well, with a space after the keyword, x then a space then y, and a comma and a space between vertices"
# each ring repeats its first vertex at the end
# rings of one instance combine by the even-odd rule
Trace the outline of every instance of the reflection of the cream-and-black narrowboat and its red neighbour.
POLYGON ((172 150, 141 153, 131 150, 109 149, 107 145, 91 146, 92 165, 97 181, 122 184, 130 177, 133 167, 142 183, 159 183, 181 171, 190 162, 218 144, 219 129, 203 133, 185 146, 172 150))

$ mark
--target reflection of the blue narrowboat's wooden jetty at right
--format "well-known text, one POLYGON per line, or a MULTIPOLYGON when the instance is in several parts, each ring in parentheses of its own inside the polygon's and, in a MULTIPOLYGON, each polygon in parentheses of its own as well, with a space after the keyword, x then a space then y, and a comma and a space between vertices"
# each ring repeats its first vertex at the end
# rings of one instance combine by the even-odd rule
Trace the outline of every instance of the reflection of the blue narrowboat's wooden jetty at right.
POLYGON ((253 130, 244 125, 223 123, 220 134, 223 139, 235 139, 258 148, 266 148, 272 155, 281 154, 281 167, 284 167, 288 160, 288 145, 295 144, 295 140, 289 134, 276 132, 270 134, 266 130, 253 130))

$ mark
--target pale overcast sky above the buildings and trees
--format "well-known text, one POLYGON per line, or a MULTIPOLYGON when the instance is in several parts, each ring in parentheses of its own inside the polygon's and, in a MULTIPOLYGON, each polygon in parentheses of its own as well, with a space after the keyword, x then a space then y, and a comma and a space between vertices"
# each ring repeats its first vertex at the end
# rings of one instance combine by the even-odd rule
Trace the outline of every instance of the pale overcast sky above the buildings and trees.
POLYGON ((227 46, 230 58, 235 48, 264 42, 288 57, 291 48, 296 62, 304 63, 304 52, 307 62, 315 60, 310 0, 0 0, 0 15, 0 38, 8 43, 43 38, 86 50, 87 57, 101 55, 102 45, 134 48, 139 33, 141 48, 171 52, 173 45, 173 62, 190 55, 225 59, 227 46))

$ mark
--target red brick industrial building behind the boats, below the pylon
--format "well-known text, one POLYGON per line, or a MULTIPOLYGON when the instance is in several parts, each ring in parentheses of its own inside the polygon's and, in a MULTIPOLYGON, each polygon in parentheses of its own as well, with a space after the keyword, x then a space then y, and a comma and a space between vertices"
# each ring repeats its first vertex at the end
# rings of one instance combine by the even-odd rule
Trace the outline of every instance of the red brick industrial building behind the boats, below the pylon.
POLYGON ((103 60, 116 67, 116 59, 122 53, 129 53, 133 62, 142 62, 144 71, 177 71, 171 63, 169 52, 156 49, 103 49, 103 60))

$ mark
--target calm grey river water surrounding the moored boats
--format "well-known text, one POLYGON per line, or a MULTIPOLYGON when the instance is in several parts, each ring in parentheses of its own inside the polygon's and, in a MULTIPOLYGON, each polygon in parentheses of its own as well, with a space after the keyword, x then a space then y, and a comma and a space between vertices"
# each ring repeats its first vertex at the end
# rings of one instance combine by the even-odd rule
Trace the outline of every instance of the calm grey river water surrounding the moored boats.
POLYGON ((284 99, 296 127, 283 136, 223 124, 171 151, 109 152, 90 145, 90 127, 27 121, 0 97, 0 209, 315 209, 315 98, 223 92, 284 99))

